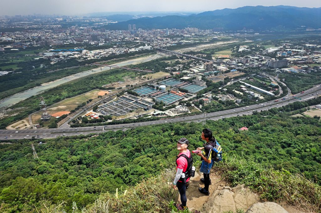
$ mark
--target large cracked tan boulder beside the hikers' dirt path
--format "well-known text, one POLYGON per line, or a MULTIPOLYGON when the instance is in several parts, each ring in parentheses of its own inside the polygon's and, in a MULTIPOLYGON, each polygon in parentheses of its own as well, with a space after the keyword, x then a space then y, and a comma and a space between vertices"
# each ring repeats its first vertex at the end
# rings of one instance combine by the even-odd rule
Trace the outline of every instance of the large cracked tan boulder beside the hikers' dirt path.
POLYGON ((258 195, 244 188, 244 185, 237 185, 234 188, 218 186, 217 190, 204 204, 204 208, 209 213, 221 213, 229 210, 236 212, 237 209, 248 209, 258 200, 258 195))

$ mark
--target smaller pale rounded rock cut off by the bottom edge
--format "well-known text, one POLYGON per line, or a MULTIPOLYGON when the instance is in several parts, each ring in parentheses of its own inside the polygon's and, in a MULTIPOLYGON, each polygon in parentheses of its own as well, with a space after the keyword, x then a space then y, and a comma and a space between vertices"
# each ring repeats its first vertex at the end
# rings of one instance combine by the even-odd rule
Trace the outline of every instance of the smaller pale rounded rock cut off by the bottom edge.
POLYGON ((282 206, 273 202, 254 203, 246 213, 288 213, 282 206))

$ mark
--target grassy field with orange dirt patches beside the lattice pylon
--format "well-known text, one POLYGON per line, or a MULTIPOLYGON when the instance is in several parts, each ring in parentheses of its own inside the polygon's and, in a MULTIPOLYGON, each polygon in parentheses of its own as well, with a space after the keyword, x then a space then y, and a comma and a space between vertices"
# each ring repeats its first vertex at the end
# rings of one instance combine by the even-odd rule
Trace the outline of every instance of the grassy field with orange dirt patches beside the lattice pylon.
MULTIPOLYGON (((68 114, 67 112, 70 112, 71 110, 75 109, 78 105, 82 104, 83 102, 86 102, 89 99, 95 99, 98 97, 99 94, 105 95, 105 93, 108 93, 108 91, 92 90, 87 93, 78 95, 73 98, 65 99, 59 103, 49 106, 47 108, 47 112, 51 115, 55 115, 54 117, 61 116, 63 114, 68 114)), ((42 111, 31 115, 31 120, 33 124, 39 123, 41 121, 41 114, 42 111)))

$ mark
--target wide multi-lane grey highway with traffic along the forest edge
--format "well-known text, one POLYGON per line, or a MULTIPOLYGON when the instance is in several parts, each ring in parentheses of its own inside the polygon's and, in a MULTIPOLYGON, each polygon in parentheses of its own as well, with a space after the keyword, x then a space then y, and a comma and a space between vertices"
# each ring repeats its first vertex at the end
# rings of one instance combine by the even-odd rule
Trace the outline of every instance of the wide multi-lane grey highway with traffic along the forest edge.
MULTIPOLYGON (((228 109, 224 111, 218 111, 213 113, 207 113, 207 120, 218 120, 227 117, 241 116, 243 114, 249 115, 253 111, 268 110, 273 107, 281 107, 293 103, 295 101, 304 101, 313 97, 317 97, 316 93, 321 94, 320 84, 314 86, 311 89, 306 90, 303 94, 296 94, 296 97, 301 98, 295 99, 291 96, 291 91, 285 96, 285 100, 279 99, 278 102, 269 101, 259 104, 253 104, 249 106, 242 106, 238 108, 228 109)), ((36 139, 41 138, 56 138, 59 136, 75 136, 75 135, 87 135, 91 133, 101 133, 107 130, 127 130, 134 127, 142 127, 148 125, 157 125, 165 123, 174 122, 201 122, 203 119, 203 114, 180 116, 176 118, 166 118, 157 121, 139 122, 139 123, 127 123, 127 124, 117 124, 108 126, 97 126, 97 127, 78 127, 78 128, 63 128, 63 129, 30 129, 30 130, 0 130, 0 140, 10 140, 10 139, 31 139, 35 136, 36 139), (39 137, 38 137, 39 136, 39 137), (5 138, 7 137, 7 138, 5 138)))

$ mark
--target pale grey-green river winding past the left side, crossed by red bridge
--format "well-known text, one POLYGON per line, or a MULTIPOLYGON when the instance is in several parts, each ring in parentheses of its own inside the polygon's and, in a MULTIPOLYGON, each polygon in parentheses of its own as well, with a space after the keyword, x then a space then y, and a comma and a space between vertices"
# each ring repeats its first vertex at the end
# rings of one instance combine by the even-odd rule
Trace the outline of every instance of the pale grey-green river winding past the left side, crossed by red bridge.
MULTIPOLYGON (((141 57, 141 58, 136 58, 136 59, 131 59, 131 60, 115 63, 115 64, 112 64, 112 65, 117 65, 117 66, 121 67, 121 66, 126 66, 126 65, 131 65, 131 64, 140 64, 140 63, 147 62, 147 61, 150 61, 150 60, 158 59, 160 57, 164 57, 164 55, 155 54, 155 55, 150 55, 150 56, 145 56, 145 57, 141 57)), ((72 81, 72 80, 76 80, 78 78, 85 77, 87 75, 91 75, 91 74, 94 74, 94 73, 99 73, 99 72, 102 72, 102 71, 106 71, 106 70, 109 70, 109 67, 103 67, 102 70, 100 70, 100 68, 95 68, 95 69, 83 71, 83 72, 80 72, 80 73, 77 73, 77 74, 74 74, 74 75, 69 75, 69 76, 66 76, 64 78, 57 79, 57 80, 52 81, 52 82, 44 83, 39 87, 34 87, 34 88, 29 89, 29 90, 26 90, 26 91, 23 91, 23 92, 20 92, 20 93, 16 93, 16 94, 14 94, 12 96, 9 96, 9 97, 1 100, 0 108, 11 106, 11 105, 13 105, 15 103, 18 103, 19 101, 27 99, 27 98, 29 98, 29 97, 31 97, 33 95, 38 95, 38 94, 44 92, 45 90, 51 89, 51 88, 56 87, 56 86, 58 86, 60 84, 63 84, 63 83, 66 83, 66 82, 69 82, 69 81, 72 81)))

